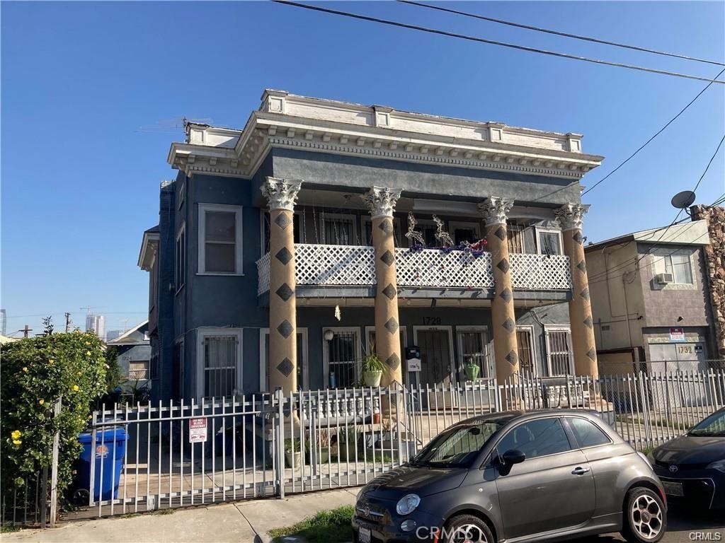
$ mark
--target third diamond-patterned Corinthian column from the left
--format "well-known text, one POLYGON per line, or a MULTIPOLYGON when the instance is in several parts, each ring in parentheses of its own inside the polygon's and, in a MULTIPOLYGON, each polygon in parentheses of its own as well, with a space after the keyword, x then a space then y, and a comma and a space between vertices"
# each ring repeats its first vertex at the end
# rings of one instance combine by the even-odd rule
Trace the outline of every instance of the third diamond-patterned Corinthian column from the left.
POLYGON ((491 253, 494 282, 494 300, 491 303, 496 379, 503 384, 518 374, 518 344, 516 342, 516 316, 513 308, 511 266, 506 239, 506 216, 513 200, 492 196, 479 203, 479 211, 486 221, 486 242, 491 253))

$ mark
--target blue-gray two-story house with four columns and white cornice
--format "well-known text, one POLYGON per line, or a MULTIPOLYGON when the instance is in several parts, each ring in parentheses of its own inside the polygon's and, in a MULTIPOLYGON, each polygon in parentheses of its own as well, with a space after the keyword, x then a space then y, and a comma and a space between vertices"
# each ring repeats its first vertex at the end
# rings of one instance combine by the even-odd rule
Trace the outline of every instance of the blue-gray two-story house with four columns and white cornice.
POLYGON ((349 387, 371 350, 384 384, 596 374, 581 139, 278 90, 188 124, 138 260, 154 393, 349 387))

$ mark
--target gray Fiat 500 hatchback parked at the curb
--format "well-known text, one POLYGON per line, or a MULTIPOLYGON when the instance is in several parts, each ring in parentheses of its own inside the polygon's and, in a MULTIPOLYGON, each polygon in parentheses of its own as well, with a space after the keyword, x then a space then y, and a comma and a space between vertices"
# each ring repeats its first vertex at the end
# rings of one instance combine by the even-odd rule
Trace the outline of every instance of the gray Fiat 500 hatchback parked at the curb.
POLYGON ((595 413, 469 418, 360 490, 357 543, 542 542, 621 531, 658 542, 662 484, 595 413))

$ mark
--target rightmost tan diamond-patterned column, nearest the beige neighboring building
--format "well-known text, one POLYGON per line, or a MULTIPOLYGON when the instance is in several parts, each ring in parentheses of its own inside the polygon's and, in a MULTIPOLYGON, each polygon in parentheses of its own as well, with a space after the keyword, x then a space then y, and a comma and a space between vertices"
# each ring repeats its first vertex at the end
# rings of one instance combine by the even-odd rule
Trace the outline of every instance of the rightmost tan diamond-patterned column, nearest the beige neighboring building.
POLYGON ((581 203, 567 203, 555 211, 561 224, 564 238, 564 254, 569 257, 571 269, 571 301, 569 322, 571 343, 574 351, 574 373, 599 376, 597 368, 597 347, 592 321, 592 303, 589 300, 589 279, 587 263, 584 261, 584 238, 581 237, 581 222, 589 206, 581 203))

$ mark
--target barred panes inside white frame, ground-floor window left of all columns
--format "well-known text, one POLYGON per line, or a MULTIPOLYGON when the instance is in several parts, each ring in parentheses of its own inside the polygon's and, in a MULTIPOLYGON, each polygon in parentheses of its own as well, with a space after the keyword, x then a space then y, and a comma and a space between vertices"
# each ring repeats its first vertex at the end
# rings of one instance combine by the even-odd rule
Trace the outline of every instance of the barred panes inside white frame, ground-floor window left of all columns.
POLYGON ((236 334, 204 337, 204 397, 236 393, 236 334))

